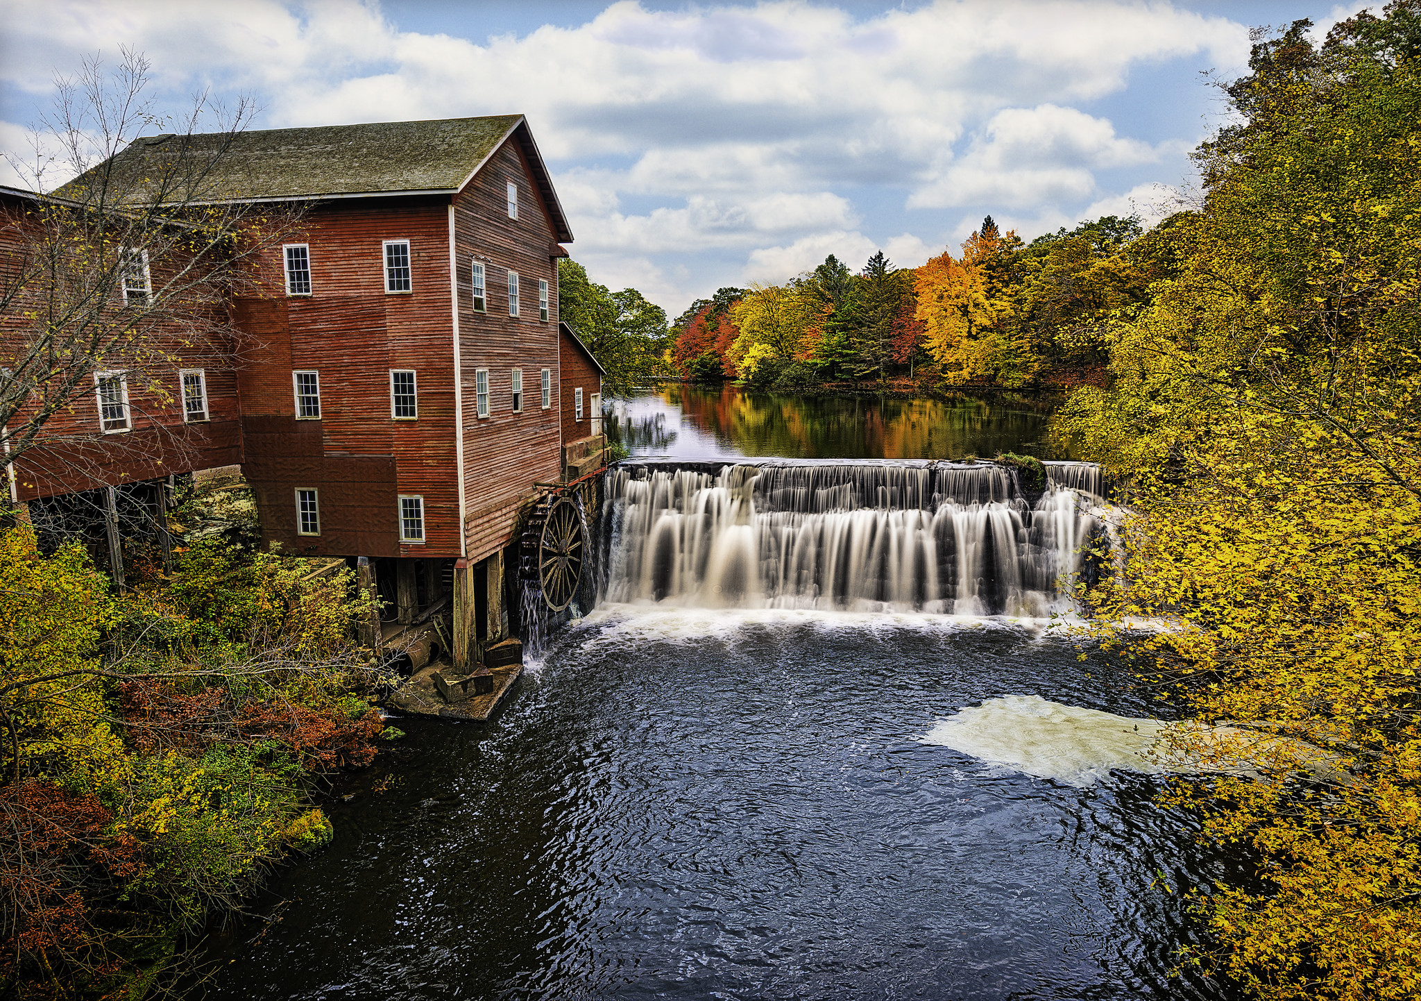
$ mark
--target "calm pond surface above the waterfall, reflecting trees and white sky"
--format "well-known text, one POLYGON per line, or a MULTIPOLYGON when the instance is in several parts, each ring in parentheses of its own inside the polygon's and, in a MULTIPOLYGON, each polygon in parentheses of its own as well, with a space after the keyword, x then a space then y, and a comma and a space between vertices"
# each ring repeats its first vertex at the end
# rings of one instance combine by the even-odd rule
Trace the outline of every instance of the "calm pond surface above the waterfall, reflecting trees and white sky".
POLYGON ((797 397, 671 384, 610 400, 607 410, 608 435, 631 455, 963 459, 1022 452, 1071 458, 1047 444, 1050 404, 1030 397, 797 397))

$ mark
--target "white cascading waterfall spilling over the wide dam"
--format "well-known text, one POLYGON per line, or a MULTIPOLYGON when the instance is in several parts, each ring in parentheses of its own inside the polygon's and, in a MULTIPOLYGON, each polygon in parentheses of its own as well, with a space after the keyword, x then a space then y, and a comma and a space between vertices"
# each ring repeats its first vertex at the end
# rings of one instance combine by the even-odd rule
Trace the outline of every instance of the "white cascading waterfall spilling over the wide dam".
POLYGON ((1081 462, 1039 495, 992 464, 624 464, 601 600, 1043 617, 1070 609, 1103 489, 1081 462))

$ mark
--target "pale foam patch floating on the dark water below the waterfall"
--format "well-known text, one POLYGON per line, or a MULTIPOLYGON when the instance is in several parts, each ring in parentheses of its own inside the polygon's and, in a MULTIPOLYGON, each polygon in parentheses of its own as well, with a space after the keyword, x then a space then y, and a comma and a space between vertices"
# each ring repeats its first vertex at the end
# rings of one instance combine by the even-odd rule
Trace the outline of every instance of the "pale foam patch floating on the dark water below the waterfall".
POLYGON ((1165 771, 1150 756, 1165 727, 1158 719, 1080 710, 1040 695, 1003 695, 939 721, 919 739, 990 765, 1086 788, 1115 768, 1165 771))

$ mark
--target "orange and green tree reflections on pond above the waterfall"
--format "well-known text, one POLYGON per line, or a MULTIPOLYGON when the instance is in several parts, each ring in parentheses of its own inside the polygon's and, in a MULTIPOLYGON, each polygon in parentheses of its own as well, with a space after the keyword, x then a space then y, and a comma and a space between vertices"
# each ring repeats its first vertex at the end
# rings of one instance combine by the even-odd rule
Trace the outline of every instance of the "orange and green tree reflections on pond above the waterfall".
POLYGON ((1053 400, 796 397, 729 385, 668 390, 668 402, 746 455, 959 459, 1016 451, 1052 458, 1053 400))

